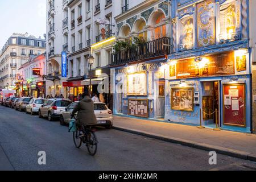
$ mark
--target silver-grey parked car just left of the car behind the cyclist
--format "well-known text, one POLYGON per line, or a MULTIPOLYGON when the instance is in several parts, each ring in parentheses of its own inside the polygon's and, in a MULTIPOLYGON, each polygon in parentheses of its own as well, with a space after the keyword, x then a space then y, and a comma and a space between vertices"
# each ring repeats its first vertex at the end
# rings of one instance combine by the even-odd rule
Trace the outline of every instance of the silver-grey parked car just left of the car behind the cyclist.
POLYGON ((39 118, 47 117, 48 121, 52 121, 53 118, 59 118, 61 111, 72 103, 71 100, 63 98, 51 98, 44 102, 44 104, 39 108, 38 116, 39 118))

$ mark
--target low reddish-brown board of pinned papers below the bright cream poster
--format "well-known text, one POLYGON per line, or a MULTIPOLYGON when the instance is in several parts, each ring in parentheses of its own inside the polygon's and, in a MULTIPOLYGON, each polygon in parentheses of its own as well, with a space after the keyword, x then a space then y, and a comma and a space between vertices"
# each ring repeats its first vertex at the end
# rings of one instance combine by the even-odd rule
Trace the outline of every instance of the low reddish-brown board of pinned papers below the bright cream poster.
POLYGON ((147 99, 129 99, 128 115, 148 118, 148 100, 147 99))

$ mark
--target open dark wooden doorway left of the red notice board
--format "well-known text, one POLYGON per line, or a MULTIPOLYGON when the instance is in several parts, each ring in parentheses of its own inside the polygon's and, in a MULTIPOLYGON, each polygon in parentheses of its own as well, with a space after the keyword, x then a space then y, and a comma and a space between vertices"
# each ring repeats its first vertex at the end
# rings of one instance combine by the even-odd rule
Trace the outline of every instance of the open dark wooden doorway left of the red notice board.
POLYGON ((219 119, 219 100, 220 100, 220 83, 219 81, 203 82, 203 121, 208 127, 215 127, 219 119), (217 110, 217 117, 214 111, 217 110))

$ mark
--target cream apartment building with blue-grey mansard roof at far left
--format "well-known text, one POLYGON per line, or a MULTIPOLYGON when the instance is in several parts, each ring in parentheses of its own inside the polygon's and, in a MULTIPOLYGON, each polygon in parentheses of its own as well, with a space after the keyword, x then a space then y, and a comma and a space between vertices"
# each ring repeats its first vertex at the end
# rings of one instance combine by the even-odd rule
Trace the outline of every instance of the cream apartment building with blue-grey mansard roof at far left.
POLYGON ((31 55, 46 52, 46 40, 26 34, 13 34, 0 52, 0 88, 15 88, 18 69, 31 55))

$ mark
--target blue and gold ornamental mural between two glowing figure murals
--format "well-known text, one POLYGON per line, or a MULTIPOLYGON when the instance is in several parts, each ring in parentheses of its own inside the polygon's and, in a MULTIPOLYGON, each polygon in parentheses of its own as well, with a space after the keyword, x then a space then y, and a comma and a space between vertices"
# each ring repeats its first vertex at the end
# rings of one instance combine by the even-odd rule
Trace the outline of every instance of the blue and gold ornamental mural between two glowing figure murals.
POLYGON ((214 0, 197 4, 197 42, 199 47, 211 46, 216 43, 214 7, 214 0))

